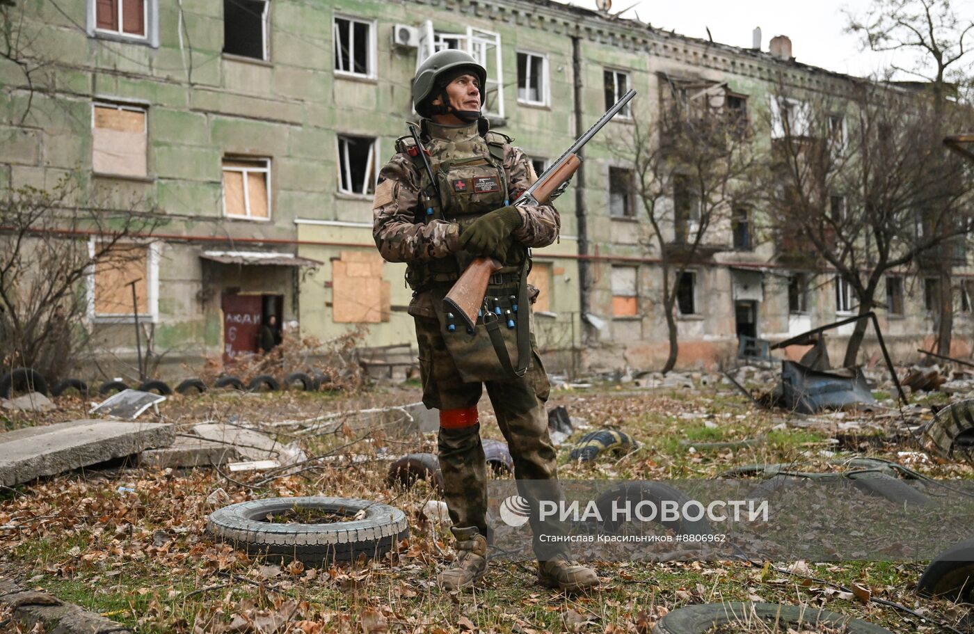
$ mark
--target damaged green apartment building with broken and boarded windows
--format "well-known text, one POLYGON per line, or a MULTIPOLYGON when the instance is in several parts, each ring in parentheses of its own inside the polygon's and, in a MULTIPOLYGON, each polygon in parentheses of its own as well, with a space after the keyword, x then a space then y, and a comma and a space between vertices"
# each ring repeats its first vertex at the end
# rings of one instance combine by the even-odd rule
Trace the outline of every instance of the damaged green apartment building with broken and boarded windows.
MULTIPOLYGON (((611 138, 674 87, 753 120, 781 83, 827 91, 849 79, 797 63, 787 38, 735 48, 549 0, 14 5, 53 64, 30 90, 0 63, 0 182, 50 188, 77 173, 93 199, 161 216, 131 244, 144 257, 95 267, 88 325, 103 350, 134 354, 125 284, 139 279, 135 306, 167 353, 163 374, 256 352, 271 316, 322 340, 365 326, 366 347, 415 354, 404 265, 379 257, 371 202, 416 119, 413 74, 435 51, 466 50, 488 69, 485 114, 539 173, 622 93, 639 93, 585 148, 583 174, 557 201, 560 240, 534 253, 539 343, 574 371, 652 369, 667 353, 658 254, 611 138)), ((692 197, 675 182, 666 204, 692 225, 692 197)), ((841 280, 792 269, 759 242, 752 213, 735 210, 678 280, 679 366, 715 367, 742 337, 783 339, 854 310, 841 280)), ((898 350, 917 348, 931 291, 900 278, 887 294, 885 332, 898 350)), ((957 328, 969 331, 961 299, 957 328)))

